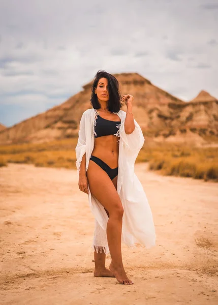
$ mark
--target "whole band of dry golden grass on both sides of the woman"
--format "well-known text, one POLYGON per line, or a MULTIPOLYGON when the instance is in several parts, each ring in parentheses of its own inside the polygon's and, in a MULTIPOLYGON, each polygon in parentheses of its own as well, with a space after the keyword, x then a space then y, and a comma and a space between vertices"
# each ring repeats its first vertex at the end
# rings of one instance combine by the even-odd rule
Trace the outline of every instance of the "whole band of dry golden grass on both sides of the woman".
MULTIPOLYGON (((36 166, 76 168, 77 138, 49 143, 0 146, 0 166, 29 163, 36 166)), ((218 181, 217 148, 185 147, 145 142, 136 162, 149 162, 150 170, 164 175, 218 181)))

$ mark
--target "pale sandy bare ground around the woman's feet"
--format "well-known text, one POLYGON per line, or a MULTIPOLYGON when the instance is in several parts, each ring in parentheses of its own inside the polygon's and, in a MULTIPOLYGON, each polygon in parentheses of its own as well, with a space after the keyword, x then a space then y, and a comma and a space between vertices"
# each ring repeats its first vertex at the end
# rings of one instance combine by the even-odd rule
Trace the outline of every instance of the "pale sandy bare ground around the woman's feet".
POLYGON ((218 304, 218 184, 135 171, 157 245, 122 246, 130 286, 93 276, 94 217, 75 170, 1 168, 1 305, 218 304))

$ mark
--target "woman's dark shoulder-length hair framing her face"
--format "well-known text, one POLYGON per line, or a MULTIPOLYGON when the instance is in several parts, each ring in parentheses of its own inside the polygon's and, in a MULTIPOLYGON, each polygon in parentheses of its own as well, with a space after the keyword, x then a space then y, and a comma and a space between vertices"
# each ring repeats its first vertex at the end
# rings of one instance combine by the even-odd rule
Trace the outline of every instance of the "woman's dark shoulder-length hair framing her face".
POLYGON ((95 79, 91 87, 91 98, 90 98, 91 105, 94 109, 101 108, 97 94, 95 94, 95 88, 97 87, 98 82, 102 77, 107 78, 108 80, 108 93, 109 93, 108 110, 110 112, 118 112, 122 107, 121 95, 119 92, 119 83, 118 80, 113 75, 107 73, 104 70, 99 70, 95 75, 95 79))

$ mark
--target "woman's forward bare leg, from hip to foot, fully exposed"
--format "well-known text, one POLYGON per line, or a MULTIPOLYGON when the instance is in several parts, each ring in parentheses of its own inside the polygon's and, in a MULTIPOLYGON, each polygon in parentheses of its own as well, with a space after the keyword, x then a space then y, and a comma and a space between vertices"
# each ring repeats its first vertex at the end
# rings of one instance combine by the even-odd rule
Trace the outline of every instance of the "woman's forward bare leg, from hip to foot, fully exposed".
POLYGON ((122 264, 121 255, 121 231, 123 207, 119 195, 108 174, 95 162, 89 161, 86 172, 88 186, 91 194, 109 212, 107 223, 107 240, 111 255, 110 270, 121 284, 133 284, 127 278, 122 264))

